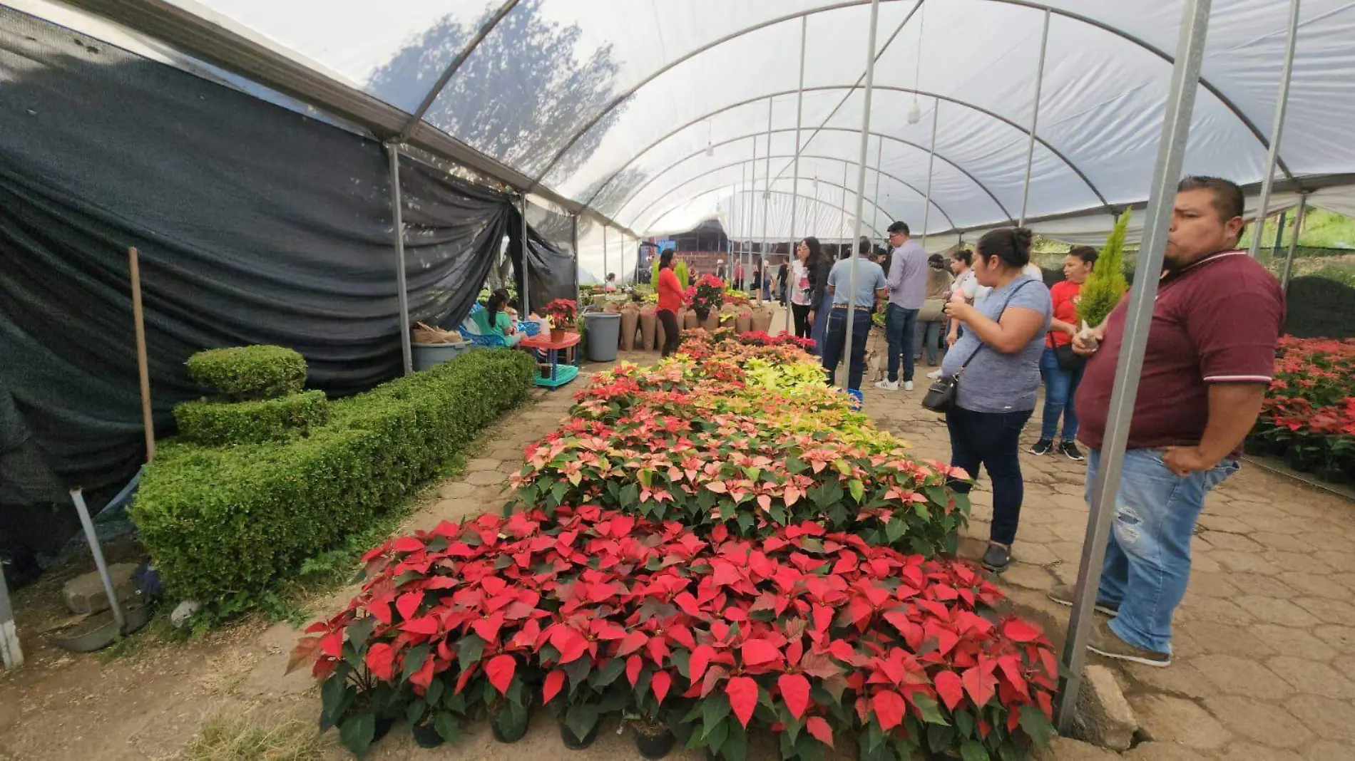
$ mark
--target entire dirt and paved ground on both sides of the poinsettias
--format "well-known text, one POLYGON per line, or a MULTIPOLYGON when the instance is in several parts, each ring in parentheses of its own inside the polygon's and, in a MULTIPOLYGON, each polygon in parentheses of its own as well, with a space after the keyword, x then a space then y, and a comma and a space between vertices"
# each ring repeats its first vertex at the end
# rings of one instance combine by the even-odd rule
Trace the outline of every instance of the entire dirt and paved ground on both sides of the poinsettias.
MULTIPOLYGON (((465 473, 439 485, 402 529, 497 509, 501 485, 519 466, 523 445, 556 427, 573 390, 539 394, 535 404, 499 421, 482 451, 466 454, 465 473)), ((908 440, 919 456, 946 459, 944 424, 919 406, 920 398, 921 391, 871 389, 866 410, 881 428, 908 440)), ((1061 643, 1068 611, 1043 593, 1076 574, 1087 521, 1084 470, 1066 459, 1031 455, 1023 455, 1023 467, 1027 493, 1016 562, 1001 584, 1022 612, 1061 643)), ((963 554, 981 551, 991 504, 991 494, 976 493, 963 554)), ((1190 589, 1177 615, 1176 664, 1118 669, 1146 741, 1125 758, 1355 758, 1352 540, 1355 504, 1260 469, 1244 469, 1210 496, 1194 543, 1190 589)), ((60 584, 77 570, 83 569, 51 574, 16 594, 28 662, 0 674, 0 760, 183 758, 186 745, 213 718, 244 714, 313 722, 318 716, 309 677, 285 674, 287 653, 299 635, 287 623, 252 617, 187 642, 152 630, 131 638, 115 657, 107 651, 76 655, 47 645, 43 628, 64 617, 60 584)), ((306 601, 306 608, 316 616, 332 612, 352 592, 335 590, 306 601)), ((638 758, 629 737, 617 729, 604 727, 591 749, 570 757, 638 758)), ((562 752, 554 723, 538 712, 533 731, 515 745, 500 745, 488 727, 477 726, 454 746, 421 750, 397 724, 369 758, 508 761, 562 752)), ((347 757, 333 733, 324 738, 321 754, 347 757)), ((840 757, 851 757, 850 749, 841 749, 840 757)), ((1070 761, 1114 754, 1060 741, 1041 757, 1070 761)), ((770 738, 756 738, 749 758, 776 758, 770 738)))

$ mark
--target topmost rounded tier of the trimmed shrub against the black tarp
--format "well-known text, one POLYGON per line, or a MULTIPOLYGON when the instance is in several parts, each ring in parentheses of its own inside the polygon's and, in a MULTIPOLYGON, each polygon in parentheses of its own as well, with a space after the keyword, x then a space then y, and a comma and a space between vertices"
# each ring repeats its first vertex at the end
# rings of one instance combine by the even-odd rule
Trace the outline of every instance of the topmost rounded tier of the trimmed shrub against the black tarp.
POLYGON ((232 347, 188 357, 188 376, 230 399, 271 399, 306 385, 306 360, 283 347, 232 347))

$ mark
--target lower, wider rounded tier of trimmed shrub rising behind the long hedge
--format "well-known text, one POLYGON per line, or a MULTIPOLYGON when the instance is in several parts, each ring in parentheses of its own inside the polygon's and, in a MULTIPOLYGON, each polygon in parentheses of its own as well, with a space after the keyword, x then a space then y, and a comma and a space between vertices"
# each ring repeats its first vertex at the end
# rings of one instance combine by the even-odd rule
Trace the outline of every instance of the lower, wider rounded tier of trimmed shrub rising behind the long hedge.
POLYGON ((207 447, 262 444, 283 441, 324 425, 329 417, 329 401, 324 391, 252 402, 198 399, 176 405, 173 417, 184 441, 207 447))

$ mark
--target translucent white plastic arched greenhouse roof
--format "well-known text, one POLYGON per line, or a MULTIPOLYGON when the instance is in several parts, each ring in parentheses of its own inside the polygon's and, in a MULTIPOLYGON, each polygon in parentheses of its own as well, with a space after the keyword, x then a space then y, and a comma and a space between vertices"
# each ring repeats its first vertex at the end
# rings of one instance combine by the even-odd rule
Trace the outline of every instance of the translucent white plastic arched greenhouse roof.
MULTIPOLYGON (((855 234, 869 0, 70 4, 378 137, 394 133, 386 111, 425 108, 435 130, 406 138, 465 144, 491 173, 512 175, 500 179, 631 233, 718 215, 741 237, 855 234)), ((893 219, 940 236, 1020 217, 1046 9, 1026 218, 1076 238, 1146 199, 1180 0, 883 0, 863 213, 875 234, 893 219)), ((1213 3, 1187 173, 1262 180, 1287 14, 1280 0, 1213 3)), ((1271 210, 1306 190, 1310 203, 1352 213, 1355 1, 1305 0, 1299 19, 1271 210)))

